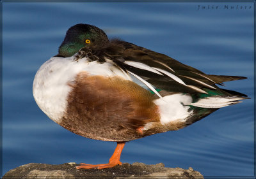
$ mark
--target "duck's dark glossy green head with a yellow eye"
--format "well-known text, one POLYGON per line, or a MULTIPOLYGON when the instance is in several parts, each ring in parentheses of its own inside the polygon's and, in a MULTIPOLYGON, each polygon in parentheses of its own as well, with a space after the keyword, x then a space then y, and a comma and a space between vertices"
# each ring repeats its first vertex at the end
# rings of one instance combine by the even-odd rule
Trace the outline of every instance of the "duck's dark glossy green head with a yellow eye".
POLYGON ((98 27, 88 24, 76 24, 70 27, 59 47, 60 57, 71 57, 83 47, 92 47, 108 43, 108 36, 98 27))

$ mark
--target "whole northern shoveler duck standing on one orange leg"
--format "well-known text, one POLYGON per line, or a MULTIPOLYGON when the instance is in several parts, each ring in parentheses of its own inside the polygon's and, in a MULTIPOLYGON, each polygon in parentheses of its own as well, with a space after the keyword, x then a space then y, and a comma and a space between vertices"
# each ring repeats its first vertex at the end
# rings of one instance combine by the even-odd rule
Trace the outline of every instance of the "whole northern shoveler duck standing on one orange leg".
POLYGON ((125 142, 182 129, 246 95, 218 85, 242 76, 207 75, 198 69, 108 36, 93 25, 68 29, 58 55, 38 69, 33 95, 57 124, 94 140, 115 141, 108 164, 120 162, 125 142))

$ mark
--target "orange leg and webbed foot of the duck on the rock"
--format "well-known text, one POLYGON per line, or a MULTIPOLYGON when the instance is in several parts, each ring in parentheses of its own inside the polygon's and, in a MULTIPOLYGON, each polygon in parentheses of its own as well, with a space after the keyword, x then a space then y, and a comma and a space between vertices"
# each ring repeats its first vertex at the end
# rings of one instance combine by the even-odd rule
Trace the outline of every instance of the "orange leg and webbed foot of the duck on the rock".
POLYGON ((123 143, 117 143, 115 152, 113 155, 110 157, 108 164, 97 164, 97 165, 92 165, 92 164, 84 164, 81 163, 80 166, 77 166, 77 169, 85 168, 85 169, 102 169, 102 168, 111 168, 117 165, 122 165, 122 162, 120 162, 120 156, 122 153, 122 150, 124 148, 125 142, 123 143))

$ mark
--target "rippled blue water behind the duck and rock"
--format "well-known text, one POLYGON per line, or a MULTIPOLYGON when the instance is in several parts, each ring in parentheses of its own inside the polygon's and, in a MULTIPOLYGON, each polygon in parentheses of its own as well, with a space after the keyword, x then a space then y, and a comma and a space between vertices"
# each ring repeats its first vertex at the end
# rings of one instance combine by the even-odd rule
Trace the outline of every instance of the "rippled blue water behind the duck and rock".
POLYGON ((170 168, 192 167, 204 176, 255 175, 253 3, 2 5, 2 175, 29 162, 104 163, 115 149, 115 143, 83 138, 55 124, 33 99, 37 69, 57 54, 65 32, 77 23, 96 25, 110 38, 161 52, 208 74, 248 77, 225 84, 252 99, 221 108, 180 131, 131 141, 125 145, 122 162, 163 162, 170 168))

